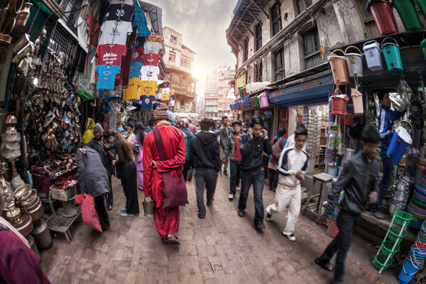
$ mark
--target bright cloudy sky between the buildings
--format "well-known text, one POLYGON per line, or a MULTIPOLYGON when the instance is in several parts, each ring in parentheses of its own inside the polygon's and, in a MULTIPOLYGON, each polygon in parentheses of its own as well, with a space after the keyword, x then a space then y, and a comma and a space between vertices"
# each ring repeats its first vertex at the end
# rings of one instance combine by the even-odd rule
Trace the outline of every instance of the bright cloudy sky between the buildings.
POLYGON ((206 75, 236 58, 226 43, 226 28, 238 0, 145 0, 163 10, 163 27, 182 33, 182 43, 194 50, 192 77, 198 79, 197 97, 204 96, 206 75))

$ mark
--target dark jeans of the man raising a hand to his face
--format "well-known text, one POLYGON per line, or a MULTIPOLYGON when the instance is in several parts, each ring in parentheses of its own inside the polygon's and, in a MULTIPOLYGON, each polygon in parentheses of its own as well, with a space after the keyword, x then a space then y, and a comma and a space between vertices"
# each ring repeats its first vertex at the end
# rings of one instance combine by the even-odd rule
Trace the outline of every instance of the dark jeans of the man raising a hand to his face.
POLYGON ((241 171, 241 195, 238 203, 238 209, 244 211, 246 209, 247 197, 249 196, 249 190, 253 185, 253 199, 256 213, 254 214, 254 224, 263 223, 263 217, 265 212, 263 210, 263 184, 265 183, 265 174, 263 170, 259 170, 256 173, 251 171, 241 171))

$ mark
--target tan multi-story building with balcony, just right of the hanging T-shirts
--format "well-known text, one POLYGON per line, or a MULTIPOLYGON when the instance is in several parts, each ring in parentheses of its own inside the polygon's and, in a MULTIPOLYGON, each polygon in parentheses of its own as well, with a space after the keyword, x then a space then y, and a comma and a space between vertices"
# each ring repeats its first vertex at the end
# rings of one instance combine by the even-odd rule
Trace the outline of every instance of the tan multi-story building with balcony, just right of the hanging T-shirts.
POLYGON ((175 90, 175 111, 195 112, 195 87, 197 79, 192 77, 195 52, 182 43, 182 33, 173 28, 163 28, 165 54, 163 60, 170 89, 175 90))

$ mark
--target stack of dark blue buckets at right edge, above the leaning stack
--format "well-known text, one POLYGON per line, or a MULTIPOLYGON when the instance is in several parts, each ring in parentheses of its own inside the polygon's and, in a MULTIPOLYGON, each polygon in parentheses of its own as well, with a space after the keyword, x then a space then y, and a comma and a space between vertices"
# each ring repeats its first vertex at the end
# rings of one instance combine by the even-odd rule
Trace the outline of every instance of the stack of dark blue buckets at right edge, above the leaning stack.
POLYGON ((408 204, 408 212, 413 214, 414 219, 410 226, 419 229, 426 219, 426 177, 420 180, 413 192, 413 198, 408 204))

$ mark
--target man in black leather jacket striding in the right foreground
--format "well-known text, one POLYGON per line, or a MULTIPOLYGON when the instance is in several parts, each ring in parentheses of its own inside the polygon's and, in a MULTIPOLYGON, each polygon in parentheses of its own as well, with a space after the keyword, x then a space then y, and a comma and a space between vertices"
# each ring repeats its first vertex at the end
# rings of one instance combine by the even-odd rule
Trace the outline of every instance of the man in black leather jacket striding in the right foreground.
POLYGON ((337 253, 334 280, 332 283, 342 283, 344 272, 344 258, 351 245, 352 234, 359 223, 361 213, 367 202, 374 204, 378 200, 378 162, 375 160, 380 136, 376 126, 367 124, 361 133, 362 150, 344 163, 344 168, 339 180, 333 185, 325 218, 329 223, 334 207, 339 200, 339 195, 344 190, 337 227, 339 234, 327 246, 315 263, 327 271, 332 271, 333 266, 329 261, 337 253))

